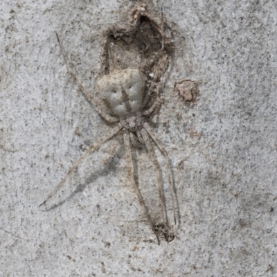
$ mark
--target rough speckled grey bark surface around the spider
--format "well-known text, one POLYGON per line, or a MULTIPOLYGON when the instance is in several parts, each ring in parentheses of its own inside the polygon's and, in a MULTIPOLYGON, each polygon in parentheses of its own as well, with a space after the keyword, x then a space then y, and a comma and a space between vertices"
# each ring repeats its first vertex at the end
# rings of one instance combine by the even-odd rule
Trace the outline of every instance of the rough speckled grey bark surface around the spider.
MULTIPOLYGON (((1 1, 0 276, 277 275, 276 1, 148 3, 156 19, 163 6, 175 41, 150 119, 174 175, 172 242, 158 245, 145 220, 122 135, 87 157, 47 211, 38 207, 112 127, 70 77, 55 32, 95 95, 105 30, 128 26, 140 3, 1 1), (183 79, 198 84, 190 104, 175 90, 183 79)), ((145 149, 133 151, 155 215, 154 167, 145 149)))

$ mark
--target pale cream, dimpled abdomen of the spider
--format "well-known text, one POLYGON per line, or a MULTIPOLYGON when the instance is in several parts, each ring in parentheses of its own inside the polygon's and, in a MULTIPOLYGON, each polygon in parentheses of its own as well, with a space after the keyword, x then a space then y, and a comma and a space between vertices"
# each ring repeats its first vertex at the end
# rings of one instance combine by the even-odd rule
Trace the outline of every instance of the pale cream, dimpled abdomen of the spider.
POLYGON ((100 78, 97 86, 111 114, 126 116, 141 109, 145 84, 139 69, 116 70, 100 78))

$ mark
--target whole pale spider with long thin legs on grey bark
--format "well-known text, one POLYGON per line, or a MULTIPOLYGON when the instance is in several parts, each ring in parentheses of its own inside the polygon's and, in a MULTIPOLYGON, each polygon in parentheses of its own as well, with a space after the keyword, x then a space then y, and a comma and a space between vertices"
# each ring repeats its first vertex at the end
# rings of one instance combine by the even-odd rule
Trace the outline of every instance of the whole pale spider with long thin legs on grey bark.
MULTIPOLYGON (((160 33, 162 35, 162 42, 161 49, 159 53, 157 53, 157 55, 162 55, 164 51, 163 27, 161 28, 160 33)), ((96 107, 96 110, 99 112, 102 118, 107 120, 107 122, 109 123, 117 123, 117 126, 111 129, 111 131, 109 131, 104 137, 102 137, 102 139, 96 141, 96 143, 93 143, 93 145, 90 145, 89 148, 87 148, 87 150, 82 154, 78 161, 76 161, 76 163, 69 169, 62 181, 60 181, 60 184, 58 184, 55 187, 51 194, 48 195, 44 202, 39 206, 46 204, 48 199, 55 195, 57 190, 59 190, 62 187, 67 177, 69 177, 73 170, 75 170, 75 168, 78 167, 78 165, 84 159, 84 157, 87 157, 89 153, 100 148, 100 145, 111 139, 113 136, 116 136, 116 134, 118 134, 121 131, 123 133, 123 141, 127 157, 127 170, 129 179, 132 183, 137 197, 139 198, 139 202, 143 207, 148 222, 150 223, 151 229, 157 237, 158 244, 159 235, 161 231, 160 228, 157 228, 157 226, 164 226, 163 235, 165 236, 167 241, 172 240, 172 235, 170 235, 170 232, 168 231, 168 218, 165 211, 165 203, 161 187, 161 171, 159 169, 159 163, 157 161, 156 155, 154 154, 154 150, 152 148, 152 143, 150 139, 157 145, 157 147, 166 159, 168 183, 170 186, 172 208, 176 224, 174 191, 172 185, 172 175, 170 170, 170 160, 168 157, 168 152, 165 148, 163 148, 161 141, 159 141, 157 136, 154 134, 150 125, 146 122, 145 118, 145 116, 149 116, 157 107, 157 105, 159 105, 159 89, 157 89, 157 87, 156 89, 154 89, 155 85, 157 85, 156 82, 158 74, 156 73, 154 75, 152 83, 150 84, 148 91, 145 93, 145 81, 143 78, 143 73, 141 73, 139 69, 118 69, 118 67, 116 66, 116 62, 114 61, 114 55, 113 53, 111 53, 111 50, 109 49, 108 52, 111 64, 113 65, 113 69, 111 70, 111 72, 109 72, 108 75, 103 75, 102 78, 98 80, 97 87, 100 93, 100 100, 98 100, 97 98, 91 96, 91 94, 86 89, 84 89, 82 84, 79 82, 78 78, 73 73, 71 67, 69 66, 69 62, 64 52, 64 48, 62 47, 57 33, 56 36, 57 42, 60 45, 64 62, 66 64, 66 68, 75 80, 75 82, 78 84, 78 87, 80 88, 82 93, 84 93, 84 96, 89 100, 89 102, 91 102, 92 105, 94 105, 94 107, 96 107), (149 105, 150 96, 152 96, 153 91, 157 93, 156 100, 153 104, 151 104, 152 106, 146 108, 146 105, 149 105), (146 148, 150 154, 150 159, 152 160, 152 163, 154 164, 156 170, 157 187, 159 191, 161 213, 163 218, 163 224, 160 225, 153 223, 152 218, 150 217, 150 213, 148 212, 148 208, 145 206, 143 197, 141 196, 139 188, 136 185, 136 181, 134 179, 134 166, 132 162, 130 141, 132 145, 136 146, 138 142, 136 141, 135 136, 137 137, 137 139, 139 139, 140 143, 146 145, 146 148)), ((158 67, 160 67, 160 65, 158 67)))

